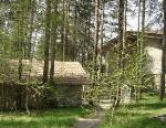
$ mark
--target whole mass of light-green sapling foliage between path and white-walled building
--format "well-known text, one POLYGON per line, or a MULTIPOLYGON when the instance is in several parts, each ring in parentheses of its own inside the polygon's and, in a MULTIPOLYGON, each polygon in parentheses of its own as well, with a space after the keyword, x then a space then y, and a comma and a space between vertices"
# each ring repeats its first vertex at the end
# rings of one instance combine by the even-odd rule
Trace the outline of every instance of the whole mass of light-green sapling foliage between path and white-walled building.
POLYGON ((87 94, 87 99, 93 100, 95 104, 104 98, 115 99, 118 89, 123 85, 131 87, 132 95, 135 96, 137 95, 135 92, 139 88, 148 92, 146 88, 149 88, 147 85, 152 77, 146 75, 147 55, 139 55, 129 51, 124 56, 124 68, 120 68, 117 65, 118 54, 115 50, 110 53, 112 56, 107 60, 110 65, 107 73, 100 75, 100 78, 87 94))

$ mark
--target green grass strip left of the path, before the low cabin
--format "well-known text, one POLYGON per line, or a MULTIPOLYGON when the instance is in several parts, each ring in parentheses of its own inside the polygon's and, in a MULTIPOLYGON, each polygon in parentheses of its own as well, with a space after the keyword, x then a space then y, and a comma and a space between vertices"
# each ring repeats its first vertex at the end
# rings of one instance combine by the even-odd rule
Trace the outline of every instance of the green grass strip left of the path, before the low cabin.
POLYGON ((56 108, 25 113, 0 113, 0 128, 69 128, 76 117, 85 116, 84 108, 56 108))

